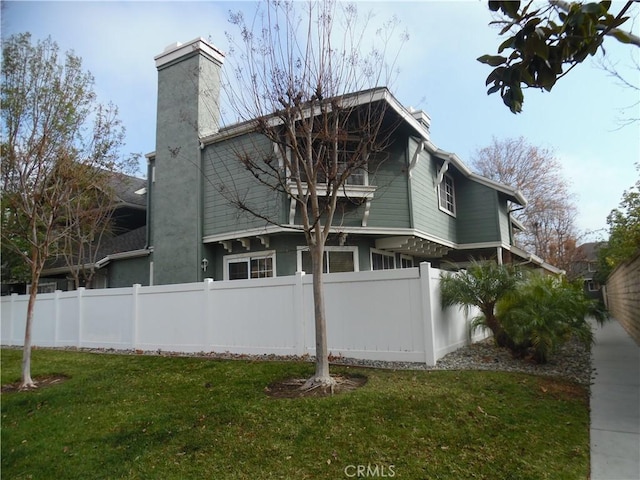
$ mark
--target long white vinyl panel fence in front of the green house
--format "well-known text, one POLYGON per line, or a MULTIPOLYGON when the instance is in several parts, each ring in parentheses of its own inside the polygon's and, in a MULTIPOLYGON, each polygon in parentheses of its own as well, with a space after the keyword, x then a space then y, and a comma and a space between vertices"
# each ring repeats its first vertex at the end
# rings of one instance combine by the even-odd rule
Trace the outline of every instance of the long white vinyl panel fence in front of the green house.
MULTIPOLYGON (((471 338, 463 311, 440 306, 440 273, 423 263, 419 268, 326 275, 331 355, 435 365, 437 359, 468 344, 471 338)), ((298 273, 269 279, 40 294, 32 343, 313 355, 311 282, 311 275, 298 273)), ((27 301, 26 295, 2 298, 3 345, 23 344, 27 301)))

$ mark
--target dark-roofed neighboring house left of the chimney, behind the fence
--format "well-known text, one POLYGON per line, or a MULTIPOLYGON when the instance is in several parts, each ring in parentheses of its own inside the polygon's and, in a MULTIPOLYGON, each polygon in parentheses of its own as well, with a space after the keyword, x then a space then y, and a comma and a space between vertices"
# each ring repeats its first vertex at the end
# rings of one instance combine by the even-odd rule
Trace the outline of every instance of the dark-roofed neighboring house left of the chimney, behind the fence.
MULTIPOLYGON (((92 288, 149 284, 147 248, 147 180, 122 173, 110 175, 115 194, 111 229, 84 268, 95 268, 92 288)), ((75 287, 64 257, 52 259, 40 277, 39 293, 72 290, 75 287)))

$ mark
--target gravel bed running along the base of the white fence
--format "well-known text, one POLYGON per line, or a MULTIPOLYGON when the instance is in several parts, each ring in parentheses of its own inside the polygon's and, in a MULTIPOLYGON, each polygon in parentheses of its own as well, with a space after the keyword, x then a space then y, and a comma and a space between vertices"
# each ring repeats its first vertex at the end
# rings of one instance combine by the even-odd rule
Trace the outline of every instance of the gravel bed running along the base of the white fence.
MULTIPOLYGON (((21 347, 3 347, 21 348, 21 347)), ((35 347, 34 347, 35 348, 35 347)), ((179 353, 163 350, 116 350, 112 348, 76 348, 66 347, 64 350, 83 351, 90 353, 107 353, 121 355, 163 355, 204 357, 221 360, 252 360, 252 361, 307 361, 314 358, 309 355, 243 355, 218 352, 179 353)), ((330 357, 332 365, 358 366, 366 368, 384 368, 392 370, 496 370, 508 372, 523 372, 533 375, 562 377, 570 381, 590 385, 593 371, 591 354, 576 340, 571 340, 556 352, 547 364, 537 365, 528 359, 513 358, 509 350, 495 346, 491 338, 459 348, 442 357, 435 367, 424 363, 414 362, 386 362, 380 360, 361 360, 348 357, 330 357)))

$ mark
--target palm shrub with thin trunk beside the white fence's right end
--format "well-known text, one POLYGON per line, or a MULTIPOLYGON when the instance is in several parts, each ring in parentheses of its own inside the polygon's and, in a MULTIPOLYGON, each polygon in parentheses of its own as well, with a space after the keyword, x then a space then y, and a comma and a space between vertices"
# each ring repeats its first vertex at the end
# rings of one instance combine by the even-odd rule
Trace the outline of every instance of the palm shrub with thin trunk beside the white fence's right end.
POLYGON ((462 305, 467 311, 469 307, 478 307, 481 313, 471 321, 472 331, 488 328, 499 346, 510 347, 512 342, 495 315, 495 306, 515 289, 519 278, 510 265, 491 261, 473 262, 466 270, 441 275, 442 306, 462 305))

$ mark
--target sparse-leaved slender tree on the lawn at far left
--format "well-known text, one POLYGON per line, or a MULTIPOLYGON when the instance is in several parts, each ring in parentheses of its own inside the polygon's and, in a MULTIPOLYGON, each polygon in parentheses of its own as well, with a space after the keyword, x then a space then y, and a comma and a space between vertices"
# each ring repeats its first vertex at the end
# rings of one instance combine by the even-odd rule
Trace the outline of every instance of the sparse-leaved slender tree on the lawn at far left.
POLYGON ((40 274, 73 225, 66 206, 87 185, 80 166, 117 168, 124 129, 112 105, 96 103, 80 58, 64 61, 50 38, 18 34, 2 49, 2 242, 30 267, 21 388, 33 388, 31 327, 40 274))

